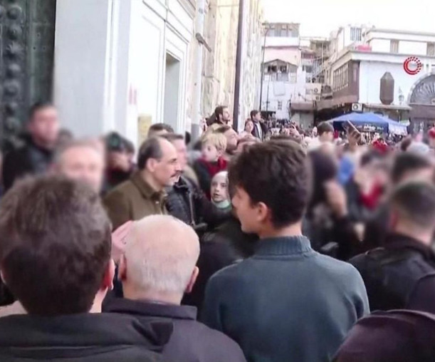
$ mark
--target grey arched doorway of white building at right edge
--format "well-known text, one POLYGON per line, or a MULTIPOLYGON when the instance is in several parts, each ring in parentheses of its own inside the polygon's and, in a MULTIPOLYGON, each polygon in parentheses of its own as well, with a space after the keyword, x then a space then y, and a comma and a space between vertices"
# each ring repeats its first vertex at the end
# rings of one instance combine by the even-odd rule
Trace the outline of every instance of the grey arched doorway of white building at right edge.
POLYGON ((435 73, 426 74, 416 81, 409 92, 411 124, 414 132, 427 130, 435 123, 435 73))

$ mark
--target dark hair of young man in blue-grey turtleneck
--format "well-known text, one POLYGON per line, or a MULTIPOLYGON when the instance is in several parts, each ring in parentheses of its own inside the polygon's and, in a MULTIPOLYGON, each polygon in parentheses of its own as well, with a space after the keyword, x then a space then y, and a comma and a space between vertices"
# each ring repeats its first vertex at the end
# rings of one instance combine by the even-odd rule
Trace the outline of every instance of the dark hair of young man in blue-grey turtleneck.
POLYGON ((291 140, 251 145, 229 167, 230 185, 245 190, 253 204, 266 204, 276 228, 302 219, 310 197, 309 175, 305 152, 291 140))

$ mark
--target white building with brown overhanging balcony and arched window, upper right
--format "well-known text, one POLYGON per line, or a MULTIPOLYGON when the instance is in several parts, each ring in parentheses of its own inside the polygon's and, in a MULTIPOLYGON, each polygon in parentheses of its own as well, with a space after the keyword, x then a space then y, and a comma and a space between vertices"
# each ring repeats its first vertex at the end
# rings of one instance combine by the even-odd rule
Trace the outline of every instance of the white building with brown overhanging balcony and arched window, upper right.
POLYGON ((317 102, 320 119, 370 111, 411 120, 414 130, 430 127, 435 122, 435 33, 347 29, 332 39, 332 53, 323 64, 332 98, 322 94, 317 102), (410 57, 415 60, 407 73, 404 63, 410 57))

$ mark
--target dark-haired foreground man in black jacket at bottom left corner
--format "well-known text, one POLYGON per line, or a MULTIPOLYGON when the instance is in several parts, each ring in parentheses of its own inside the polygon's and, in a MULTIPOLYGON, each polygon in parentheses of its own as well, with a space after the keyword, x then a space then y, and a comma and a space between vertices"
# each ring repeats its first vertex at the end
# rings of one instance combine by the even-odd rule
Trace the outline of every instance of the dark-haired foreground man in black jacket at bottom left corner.
POLYGON ((162 361, 170 324, 100 314, 115 269, 110 221, 85 185, 41 177, 13 187, 0 210, 0 268, 28 313, 0 319, 0 361, 162 361))

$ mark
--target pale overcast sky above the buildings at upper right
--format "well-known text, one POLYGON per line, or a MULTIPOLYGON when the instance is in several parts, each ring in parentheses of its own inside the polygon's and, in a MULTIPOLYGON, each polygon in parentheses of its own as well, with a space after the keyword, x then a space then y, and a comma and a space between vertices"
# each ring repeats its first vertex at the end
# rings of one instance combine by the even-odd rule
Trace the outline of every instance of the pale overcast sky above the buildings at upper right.
POLYGON ((263 0, 263 6, 266 21, 300 23, 301 36, 329 36, 345 24, 435 33, 435 0, 263 0))

